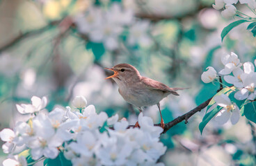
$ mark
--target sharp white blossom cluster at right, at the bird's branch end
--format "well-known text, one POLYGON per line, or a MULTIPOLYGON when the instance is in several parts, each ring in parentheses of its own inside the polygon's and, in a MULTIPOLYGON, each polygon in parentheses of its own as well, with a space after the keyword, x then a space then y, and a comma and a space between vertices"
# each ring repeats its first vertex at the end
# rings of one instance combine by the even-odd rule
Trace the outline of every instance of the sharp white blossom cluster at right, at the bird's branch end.
MULTIPOLYGON (((217 106, 221 107, 220 111, 216 112, 214 120, 218 124, 224 124, 230 119, 232 124, 236 124, 239 121, 240 109, 243 105, 253 102, 256 99, 256 59, 254 64, 252 62, 242 64, 238 56, 235 53, 231 53, 230 55, 223 55, 221 62, 225 67, 218 72, 219 75, 217 75, 213 67, 209 66, 207 67, 207 71, 201 75, 202 82, 214 82, 218 81, 219 77, 223 77, 225 82, 232 84, 232 86, 226 86, 224 84, 229 93, 217 93, 214 96, 214 102, 216 103, 208 109, 208 112, 217 106), (231 94, 234 96, 233 100, 230 100, 228 96, 231 94), (243 103, 240 104, 240 108, 234 100, 243 103)), ((220 84, 222 83, 220 82, 220 84)))

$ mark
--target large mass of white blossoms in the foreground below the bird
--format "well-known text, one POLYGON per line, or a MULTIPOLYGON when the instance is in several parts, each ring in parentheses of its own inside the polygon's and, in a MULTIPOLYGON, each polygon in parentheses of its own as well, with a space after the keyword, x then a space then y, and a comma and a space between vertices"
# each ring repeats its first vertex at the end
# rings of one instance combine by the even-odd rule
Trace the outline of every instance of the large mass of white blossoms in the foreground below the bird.
POLYGON ((72 165, 163 165, 157 163, 166 151, 159 142, 163 129, 154 127, 152 119, 142 113, 138 116, 141 128, 127 129, 125 118, 118 121, 118 114, 108 118, 105 112, 96 113, 93 105, 86 107, 82 96, 72 101, 74 110, 56 107, 48 112, 45 97, 33 96, 31 101, 17 105, 17 109, 33 117, 16 122, 13 130, 0 132, 6 142, 3 152, 9 154, 4 166, 31 165, 28 156, 20 154, 28 149, 35 161, 54 159, 62 153, 72 165))

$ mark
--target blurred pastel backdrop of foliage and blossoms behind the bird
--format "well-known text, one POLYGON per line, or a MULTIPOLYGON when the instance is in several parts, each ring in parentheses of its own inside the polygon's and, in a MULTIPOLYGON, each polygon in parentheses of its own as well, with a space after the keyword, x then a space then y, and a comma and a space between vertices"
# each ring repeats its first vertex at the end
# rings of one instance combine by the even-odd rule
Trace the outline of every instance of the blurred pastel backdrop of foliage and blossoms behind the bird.
MULTIPOLYGON (((54 105, 86 97, 98 112, 118 113, 135 124, 138 110, 127 104, 104 67, 129 63, 141 75, 172 87, 189 87, 161 102, 169 122, 216 93, 203 84, 207 66, 223 68, 221 55, 255 57, 255 38, 246 25, 234 28, 221 42, 231 20, 221 17, 209 0, 1 0, 0 1, 0 130, 13 127, 21 115, 15 104, 33 95, 54 105)), ((241 9, 243 10, 243 9, 241 9)), ((245 11, 246 12, 246 11, 245 11)), ((157 106, 144 109, 155 123, 157 106)), ((255 165, 256 147, 245 118, 232 126, 210 123, 200 134, 201 111, 177 124, 161 141, 166 165, 255 165)), ((22 116, 23 117, 23 116, 22 116)), ((2 145, 3 142, 0 142, 2 145)), ((6 154, 0 151, 0 163, 6 154)), ((0 164, 1 165, 1 164, 0 164)))

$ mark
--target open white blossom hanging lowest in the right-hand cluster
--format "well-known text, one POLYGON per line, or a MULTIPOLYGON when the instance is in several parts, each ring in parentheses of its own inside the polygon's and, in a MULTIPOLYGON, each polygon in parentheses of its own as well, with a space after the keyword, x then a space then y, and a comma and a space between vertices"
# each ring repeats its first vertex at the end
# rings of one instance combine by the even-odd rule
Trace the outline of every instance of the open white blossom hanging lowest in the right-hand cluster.
POLYGON ((240 118, 239 107, 237 107, 237 104, 232 103, 230 98, 225 94, 216 95, 214 100, 218 106, 223 107, 223 109, 217 113, 214 120, 218 122, 218 124, 225 124, 227 120, 230 119, 232 124, 237 124, 240 118))

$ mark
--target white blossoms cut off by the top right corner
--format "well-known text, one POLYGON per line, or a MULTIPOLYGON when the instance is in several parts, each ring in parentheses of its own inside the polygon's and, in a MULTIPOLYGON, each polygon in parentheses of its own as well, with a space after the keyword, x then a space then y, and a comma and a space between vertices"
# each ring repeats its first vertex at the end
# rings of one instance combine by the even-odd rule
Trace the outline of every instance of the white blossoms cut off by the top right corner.
POLYGON ((215 4, 213 4, 213 8, 216 10, 224 9, 221 12, 221 15, 225 18, 233 17, 237 14, 237 8, 234 6, 239 3, 248 5, 248 8, 251 10, 256 9, 256 1, 255 0, 215 0, 215 4))

